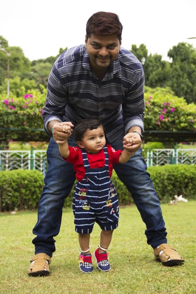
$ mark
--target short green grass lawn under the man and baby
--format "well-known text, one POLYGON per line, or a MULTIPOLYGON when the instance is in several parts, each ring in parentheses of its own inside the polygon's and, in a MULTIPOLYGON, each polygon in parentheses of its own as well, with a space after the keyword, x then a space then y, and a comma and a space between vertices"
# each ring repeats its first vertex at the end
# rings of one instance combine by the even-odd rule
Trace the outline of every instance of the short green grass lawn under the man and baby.
MULTIPOLYGON (((47 277, 29 277, 33 256, 32 228, 36 212, 0 214, 0 294, 195 294, 196 293, 196 201, 162 204, 168 243, 186 260, 168 268, 154 260, 146 243, 145 225, 133 205, 120 209, 120 223, 110 245, 110 272, 91 274, 79 270, 79 245, 71 209, 63 212, 56 252, 47 277)), ((91 236, 92 252, 99 244, 96 224, 91 236)))

